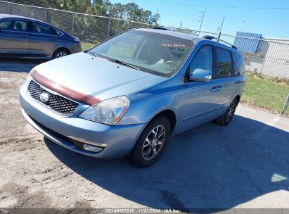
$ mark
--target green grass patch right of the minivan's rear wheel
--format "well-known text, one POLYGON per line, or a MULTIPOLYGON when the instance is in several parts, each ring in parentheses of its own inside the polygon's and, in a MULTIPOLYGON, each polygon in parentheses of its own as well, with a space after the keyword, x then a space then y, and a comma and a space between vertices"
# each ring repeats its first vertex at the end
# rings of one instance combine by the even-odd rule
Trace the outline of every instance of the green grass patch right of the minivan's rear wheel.
MULTIPOLYGON (((288 94, 289 80, 248 72, 242 101, 281 113, 288 94)), ((289 115, 289 108, 285 115, 289 115)))

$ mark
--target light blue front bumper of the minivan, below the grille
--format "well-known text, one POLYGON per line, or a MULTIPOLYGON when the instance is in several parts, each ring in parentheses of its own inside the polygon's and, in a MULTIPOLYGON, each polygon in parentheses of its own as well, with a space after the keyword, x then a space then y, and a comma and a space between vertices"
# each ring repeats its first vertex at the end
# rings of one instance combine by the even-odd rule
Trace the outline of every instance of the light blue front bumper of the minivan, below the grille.
POLYGON ((96 158, 120 158, 127 155, 134 147, 145 124, 104 125, 77 118, 79 111, 73 115, 59 115, 43 104, 35 101, 27 92, 27 85, 20 87, 20 104, 27 122, 45 137, 60 146, 96 158), (101 146, 99 152, 85 151, 73 144, 72 139, 91 145, 101 146))

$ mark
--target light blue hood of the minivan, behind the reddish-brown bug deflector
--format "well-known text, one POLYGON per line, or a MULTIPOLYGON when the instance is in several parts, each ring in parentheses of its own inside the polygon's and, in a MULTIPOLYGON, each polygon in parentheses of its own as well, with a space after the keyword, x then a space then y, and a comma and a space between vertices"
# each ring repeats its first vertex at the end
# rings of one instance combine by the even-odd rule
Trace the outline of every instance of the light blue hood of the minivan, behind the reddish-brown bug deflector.
POLYGON ((131 94, 167 80, 83 52, 42 63, 34 70, 55 82, 56 87, 72 89, 100 100, 131 94))

